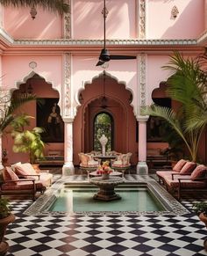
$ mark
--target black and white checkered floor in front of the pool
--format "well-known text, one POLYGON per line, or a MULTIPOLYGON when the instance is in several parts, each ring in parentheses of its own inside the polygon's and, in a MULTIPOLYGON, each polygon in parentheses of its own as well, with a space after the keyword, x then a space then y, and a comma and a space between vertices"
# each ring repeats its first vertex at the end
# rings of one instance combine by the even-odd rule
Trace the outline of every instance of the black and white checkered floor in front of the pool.
MULTIPOLYGON (((193 201, 182 201, 191 208, 193 201)), ((6 233, 7 256, 207 255, 207 229, 192 212, 184 216, 25 216, 30 200, 11 201, 16 216, 6 233)))

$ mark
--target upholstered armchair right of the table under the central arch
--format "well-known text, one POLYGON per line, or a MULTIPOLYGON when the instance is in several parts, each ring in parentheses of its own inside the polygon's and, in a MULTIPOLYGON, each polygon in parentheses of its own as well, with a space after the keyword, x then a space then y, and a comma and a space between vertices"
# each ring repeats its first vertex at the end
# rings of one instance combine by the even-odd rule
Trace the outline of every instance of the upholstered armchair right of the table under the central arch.
POLYGON ((130 168, 130 158, 132 157, 132 153, 126 153, 118 155, 117 160, 111 160, 111 168, 115 171, 122 172, 122 176, 124 177, 125 171, 130 168))

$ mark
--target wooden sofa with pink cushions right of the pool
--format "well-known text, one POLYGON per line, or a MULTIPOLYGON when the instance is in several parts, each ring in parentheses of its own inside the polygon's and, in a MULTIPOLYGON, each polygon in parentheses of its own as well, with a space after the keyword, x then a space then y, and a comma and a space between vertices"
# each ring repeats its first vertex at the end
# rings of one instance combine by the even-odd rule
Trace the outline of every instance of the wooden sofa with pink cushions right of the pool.
POLYGON ((159 182, 178 200, 185 193, 207 190, 207 166, 181 159, 171 171, 157 171, 159 182))

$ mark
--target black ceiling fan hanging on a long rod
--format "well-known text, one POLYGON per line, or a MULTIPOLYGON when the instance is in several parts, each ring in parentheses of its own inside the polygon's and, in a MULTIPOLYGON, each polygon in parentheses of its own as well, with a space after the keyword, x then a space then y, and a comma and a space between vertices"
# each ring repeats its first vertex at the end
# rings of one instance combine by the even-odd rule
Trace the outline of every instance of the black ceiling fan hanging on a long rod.
POLYGON ((99 61, 96 63, 96 66, 103 65, 104 62, 109 62, 110 60, 129 60, 136 59, 136 56, 127 56, 127 55, 110 55, 109 51, 105 48, 105 20, 109 11, 105 7, 105 0, 103 0, 103 49, 99 55, 99 61))

